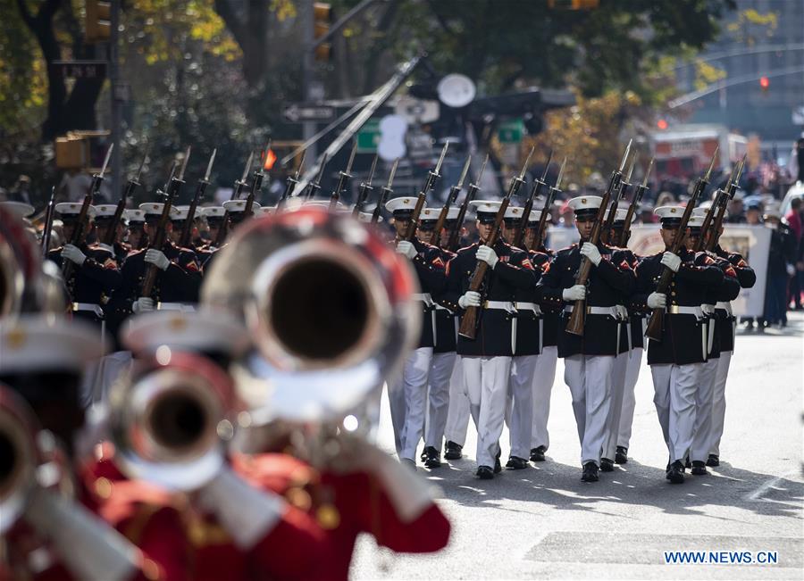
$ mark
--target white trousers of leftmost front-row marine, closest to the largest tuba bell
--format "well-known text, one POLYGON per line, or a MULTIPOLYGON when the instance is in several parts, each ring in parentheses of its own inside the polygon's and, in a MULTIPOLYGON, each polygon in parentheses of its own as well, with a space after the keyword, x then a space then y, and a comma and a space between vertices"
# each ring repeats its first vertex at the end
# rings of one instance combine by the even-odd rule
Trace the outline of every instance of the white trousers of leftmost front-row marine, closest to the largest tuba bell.
POLYGON ((415 349, 405 360, 401 378, 389 384, 391 424, 400 459, 415 460, 416 447, 422 438, 431 360, 432 347, 415 349))

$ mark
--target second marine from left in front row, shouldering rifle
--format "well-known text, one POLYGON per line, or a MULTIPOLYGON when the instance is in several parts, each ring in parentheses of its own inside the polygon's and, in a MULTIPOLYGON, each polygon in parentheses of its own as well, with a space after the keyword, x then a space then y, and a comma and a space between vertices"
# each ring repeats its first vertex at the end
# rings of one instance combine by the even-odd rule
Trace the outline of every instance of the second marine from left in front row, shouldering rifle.
MULTIPOLYGON (((481 242, 490 236, 500 203, 474 200, 481 242)), ((522 250, 501 238, 494 248, 473 244, 461 248, 448 262, 447 289, 442 303, 463 315, 469 306, 479 309, 474 339, 458 336, 456 352, 461 357, 470 411, 477 426, 477 476, 490 479, 502 467, 499 436, 506 416, 511 360, 516 349, 515 290, 535 286, 530 261, 522 250), (489 265, 482 292, 469 290, 478 261, 489 265), (521 266, 515 266, 519 264, 521 266)))

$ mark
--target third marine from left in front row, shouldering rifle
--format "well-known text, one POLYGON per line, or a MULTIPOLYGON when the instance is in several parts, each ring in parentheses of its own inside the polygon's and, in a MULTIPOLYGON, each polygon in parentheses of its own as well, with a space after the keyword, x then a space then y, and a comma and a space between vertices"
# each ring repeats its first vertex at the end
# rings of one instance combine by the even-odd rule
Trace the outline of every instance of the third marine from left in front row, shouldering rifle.
POLYGON ((567 202, 574 210, 581 244, 559 250, 537 286, 540 303, 565 304, 558 331, 558 356, 565 360, 564 380, 573 397, 585 482, 598 480, 607 434, 612 375, 621 349, 621 313, 635 283, 624 253, 608 245, 588 242, 601 202, 597 195, 576 197, 567 202), (575 282, 582 256, 592 264, 585 286, 575 282), (586 308, 582 336, 565 331, 574 302, 579 300, 585 300, 586 308))

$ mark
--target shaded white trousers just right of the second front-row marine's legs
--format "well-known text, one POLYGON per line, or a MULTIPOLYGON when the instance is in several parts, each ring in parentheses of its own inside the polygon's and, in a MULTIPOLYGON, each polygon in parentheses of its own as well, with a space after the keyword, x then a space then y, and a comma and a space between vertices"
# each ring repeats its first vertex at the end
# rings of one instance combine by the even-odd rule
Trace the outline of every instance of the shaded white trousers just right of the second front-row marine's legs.
POLYGON ((508 378, 506 423, 511 438, 511 455, 527 460, 531 454, 533 430, 533 371, 539 355, 519 355, 511 359, 508 378))

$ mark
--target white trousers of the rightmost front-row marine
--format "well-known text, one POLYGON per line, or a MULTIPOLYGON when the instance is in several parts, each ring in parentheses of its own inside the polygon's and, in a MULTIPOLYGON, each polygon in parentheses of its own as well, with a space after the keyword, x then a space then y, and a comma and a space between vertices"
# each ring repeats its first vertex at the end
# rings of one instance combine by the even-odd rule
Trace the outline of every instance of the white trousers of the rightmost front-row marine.
POLYGON ((703 363, 653 365, 653 403, 671 461, 683 461, 692 444, 695 390, 703 363))

